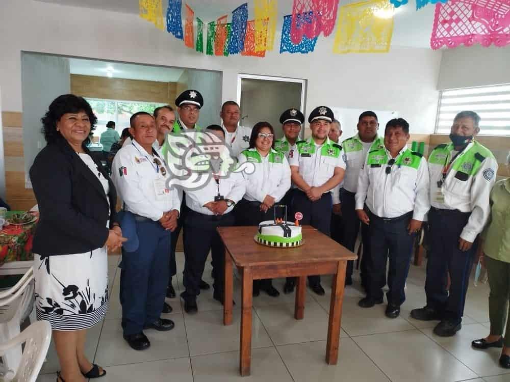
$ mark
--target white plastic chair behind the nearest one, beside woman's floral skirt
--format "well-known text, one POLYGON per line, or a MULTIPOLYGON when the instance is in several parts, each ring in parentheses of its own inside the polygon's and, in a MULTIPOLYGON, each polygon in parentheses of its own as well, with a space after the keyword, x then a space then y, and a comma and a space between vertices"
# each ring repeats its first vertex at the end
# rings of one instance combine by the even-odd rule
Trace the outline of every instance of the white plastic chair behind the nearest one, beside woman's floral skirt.
MULTIPOLYGON (((0 344, 20 333, 21 322, 34 306, 34 275, 30 268, 12 288, 0 291, 0 344)), ((21 345, 6 350, 2 362, 16 372, 21 361, 21 345)))

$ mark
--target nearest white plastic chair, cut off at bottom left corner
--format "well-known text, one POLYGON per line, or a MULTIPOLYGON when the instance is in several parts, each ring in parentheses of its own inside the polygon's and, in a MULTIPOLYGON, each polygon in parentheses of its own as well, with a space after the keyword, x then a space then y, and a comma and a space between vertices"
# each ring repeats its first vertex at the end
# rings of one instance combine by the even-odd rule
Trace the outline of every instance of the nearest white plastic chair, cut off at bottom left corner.
POLYGON ((35 382, 51 340, 52 327, 49 322, 37 321, 7 343, 0 344, 0 357, 2 358, 12 348, 18 348, 21 347, 21 344, 25 344, 18 371, 6 370, 2 372, 0 369, 0 380, 3 377, 6 382, 35 382))

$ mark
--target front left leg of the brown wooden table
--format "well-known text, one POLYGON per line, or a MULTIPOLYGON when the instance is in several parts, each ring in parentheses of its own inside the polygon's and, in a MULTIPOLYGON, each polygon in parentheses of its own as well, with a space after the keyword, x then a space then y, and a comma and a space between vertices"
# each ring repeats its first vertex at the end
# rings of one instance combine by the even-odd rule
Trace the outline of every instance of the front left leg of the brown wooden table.
POLYGON ((253 277, 251 268, 243 268, 243 296, 241 308, 241 354, 239 370, 241 376, 250 375, 251 364, 251 303, 252 303, 253 277))

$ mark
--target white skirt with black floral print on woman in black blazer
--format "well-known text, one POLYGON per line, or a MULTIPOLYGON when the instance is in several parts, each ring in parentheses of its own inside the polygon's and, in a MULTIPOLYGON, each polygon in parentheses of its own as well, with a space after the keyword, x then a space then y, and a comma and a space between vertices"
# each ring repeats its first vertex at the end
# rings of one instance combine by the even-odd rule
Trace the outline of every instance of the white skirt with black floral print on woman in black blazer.
POLYGON ((106 248, 89 253, 34 254, 37 319, 53 330, 87 329, 101 321, 108 308, 106 248))

